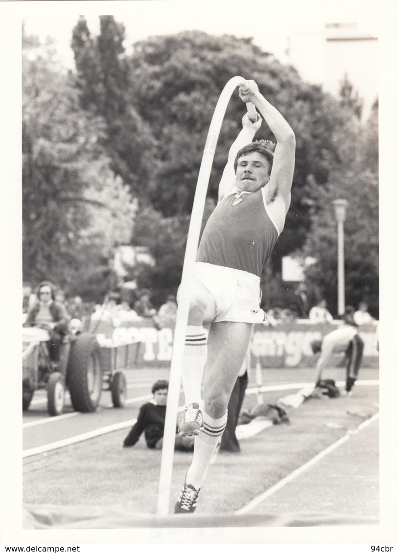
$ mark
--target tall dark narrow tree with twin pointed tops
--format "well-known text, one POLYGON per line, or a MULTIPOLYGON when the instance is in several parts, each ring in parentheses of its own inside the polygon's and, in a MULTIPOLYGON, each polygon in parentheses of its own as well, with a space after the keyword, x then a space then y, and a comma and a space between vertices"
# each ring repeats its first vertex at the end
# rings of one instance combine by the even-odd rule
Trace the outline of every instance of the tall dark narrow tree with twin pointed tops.
POLYGON ((123 24, 112 15, 101 15, 100 35, 92 37, 81 16, 72 32, 71 48, 81 106, 106 121, 101 143, 111 156, 112 170, 135 195, 143 196, 153 169, 154 139, 150 124, 133 106, 124 34, 123 24))

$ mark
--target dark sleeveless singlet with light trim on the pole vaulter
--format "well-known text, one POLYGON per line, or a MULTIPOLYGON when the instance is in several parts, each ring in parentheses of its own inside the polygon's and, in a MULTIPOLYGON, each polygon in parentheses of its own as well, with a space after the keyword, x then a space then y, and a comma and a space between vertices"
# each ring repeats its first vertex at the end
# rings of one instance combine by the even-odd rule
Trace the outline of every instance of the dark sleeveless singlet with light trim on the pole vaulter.
POLYGON ((224 197, 206 223, 196 260, 231 267, 261 278, 279 233, 265 210, 263 189, 224 197))

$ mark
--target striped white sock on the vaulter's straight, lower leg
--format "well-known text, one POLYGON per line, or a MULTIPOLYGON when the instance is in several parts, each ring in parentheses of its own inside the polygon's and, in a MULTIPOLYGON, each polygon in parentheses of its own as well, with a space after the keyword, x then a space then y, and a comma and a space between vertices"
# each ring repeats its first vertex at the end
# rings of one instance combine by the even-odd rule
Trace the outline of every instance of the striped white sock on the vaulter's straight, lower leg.
POLYGON ((196 489, 202 486, 217 444, 227 424, 227 413, 221 419, 212 419, 203 413, 203 428, 195 438, 192 465, 188 468, 186 481, 196 489))

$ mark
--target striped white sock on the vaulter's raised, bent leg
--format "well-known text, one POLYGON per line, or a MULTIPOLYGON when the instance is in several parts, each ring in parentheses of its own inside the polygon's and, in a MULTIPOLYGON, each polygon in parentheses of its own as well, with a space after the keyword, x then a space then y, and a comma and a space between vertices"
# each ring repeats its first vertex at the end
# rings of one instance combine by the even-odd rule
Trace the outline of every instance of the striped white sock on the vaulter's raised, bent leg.
POLYGON ((207 338, 203 326, 187 326, 184 357, 182 359, 182 386, 185 403, 201 405, 201 385, 207 357, 207 338))

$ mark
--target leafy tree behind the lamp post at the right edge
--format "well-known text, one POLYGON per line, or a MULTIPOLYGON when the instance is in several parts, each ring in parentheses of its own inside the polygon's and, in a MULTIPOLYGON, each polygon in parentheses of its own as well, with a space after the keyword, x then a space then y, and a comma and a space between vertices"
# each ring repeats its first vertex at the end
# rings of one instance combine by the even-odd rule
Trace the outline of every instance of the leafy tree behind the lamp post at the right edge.
POLYGON ((374 107, 365 128, 350 126, 336 135, 339 163, 327 186, 319 189, 317 210, 311 215, 302 255, 317 262, 307 269, 306 279, 337 312, 337 223, 332 201, 348 201, 344 222, 345 302, 368 302, 371 313, 379 310, 379 201, 377 149, 378 108, 374 107))

